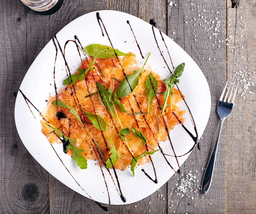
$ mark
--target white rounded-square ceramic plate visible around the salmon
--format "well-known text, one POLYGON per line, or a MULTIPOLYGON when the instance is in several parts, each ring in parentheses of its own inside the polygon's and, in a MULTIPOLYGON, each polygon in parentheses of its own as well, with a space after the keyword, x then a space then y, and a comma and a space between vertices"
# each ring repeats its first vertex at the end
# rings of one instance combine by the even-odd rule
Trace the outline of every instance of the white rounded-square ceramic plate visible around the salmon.
MULTIPOLYGON (((118 11, 99 11, 99 14, 114 48, 123 52, 132 51, 138 58, 141 58, 134 35, 127 23, 127 20, 129 20, 143 55, 146 57, 147 54, 151 52, 151 57, 149 58, 148 63, 152 66, 153 71, 159 73, 162 79, 169 77, 170 73, 163 57, 171 70, 174 71, 159 30, 154 28, 159 48, 163 51, 163 57, 160 55, 150 24, 137 17, 118 11)), ((110 45, 106 34, 105 36, 102 36, 102 31, 96 18, 96 12, 85 14, 77 18, 58 32, 57 37, 62 48, 67 40, 74 39, 74 35, 79 37, 83 47, 92 43, 110 45)), ((180 78, 178 86, 180 91, 184 94, 186 103, 194 117, 198 137, 200 138, 207 125, 210 113, 210 91, 207 80, 198 65, 185 51, 183 51, 183 49, 180 48, 180 46, 165 34, 163 34, 163 37, 172 57, 174 67, 177 67, 180 63, 186 63, 185 70, 180 78)), ((23 91, 26 97, 39 111, 42 111, 45 108, 45 100, 48 99, 49 93, 55 95, 53 84, 55 54, 55 46, 52 40, 50 40, 35 59, 34 63, 32 63, 20 85, 21 91, 23 91)), ((74 72, 81 63, 74 43, 69 43, 67 45, 66 58, 71 68, 71 72, 74 72)), ((56 60, 55 75, 57 87, 60 89, 63 87, 62 81, 67 77, 64 60, 60 51, 58 51, 56 60)), ((89 194, 93 200, 101 203, 109 203, 108 192, 99 165, 95 165, 94 161, 88 161, 88 168, 81 170, 69 155, 63 153, 61 144, 53 145, 64 165, 66 165, 77 183, 79 183, 79 185, 81 185, 87 192, 86 194, 61 163, 47 138, 41 133, 41 117, 35 108, 30 104, 29 106, 34 113, 35 118, 31 114, 22 94, 19 92, 15 103, 15 123, 20 138, 30 154, 32 154, 35 160, 37 160, 50 174, 74 191, 77 191, 85 197, 88 197, 87 194, 89 194)), ((184 102, 181 103, 180 108, 187 110, 184 102)), ((184 125, 195 135, 188 111, 184 117, 186 119, 184 125)), ((170 136, 177 156, 185 154, 194 145, 194 141, 189 137, 189 134, 186 133, 181 125, 175 126, 175 128, 170 131, 170 136)), ((174 154, 168 141, 161 143, 160 146, 163 148, 164 153, 174 154)), ((189 154, 183 157, 178 157, 180 165, 182 165, 189 154)), ((173 168, 177 170, 178 165, 175 157, 166 156, 166 158, 173 168)), ((141 200, 160 188, 175 173, 160 152, 156 152, 152 156, 152 160, 154 161, 156 168, 157 184, 149 180, 143 171, 141 171, 142 168, 145 169, 145 171, 154 179, 154 171, 151 163, 136 168, 135 177, 132 176, 130 168, 127 168, 125 171, 117 170, 122 193, 126 198, 125 203, 122 202, 119 193, 116 191, 116 187, 114 186, 108 171, 103 169, 108 184, 111 204, 128 204, 141 200)), ((111 169, 111 174, 114 177, 113 169, 111 169)), ((114 182, 116 183, 115 178, 114 182)))

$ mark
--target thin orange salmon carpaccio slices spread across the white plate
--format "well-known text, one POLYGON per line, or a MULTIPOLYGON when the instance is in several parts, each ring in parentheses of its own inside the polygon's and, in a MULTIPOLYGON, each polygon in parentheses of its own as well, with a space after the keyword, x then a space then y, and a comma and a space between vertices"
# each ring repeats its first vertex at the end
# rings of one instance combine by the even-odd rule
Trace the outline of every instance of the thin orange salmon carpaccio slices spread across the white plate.
MULTIPOLYGON (((85 58, 79 68, 89 68, 91 61, 91 58, 85 58)), ((127 139, 132 140, 128 142, 123 141, 118 134, 118 132, 122 129, 119 122, 116 122, 109 111, 106 110, 106 107, 102 106, 99 100, 99 94, 95 94, 89 97, 86 96, 98 91, 96 82, 102 83, 107 89, 111 87, 113 91, 115 91, 119 85, 119 81, 124 79, 125 74, 133 74, 134 70, 139 69, 137 67, 136 56, 135 54, 132 54, 131 56, 108 58, 105 60, 97 59, 96 62, 102 69, 105 77, 102 75, 99 68, 95 65, 93 70, 88 71, 84 80, 79 80, 72 85, 64 86, 55 97, 50 96, 48 105, 42 112, 42 131, 47 136, 50 143, 61 143, 57 134, 49 134, 52 132, 52 129, 44 123, 47 122, 51 126, 59 128, 59 130, 62 131, 64 135, 76 140, 76 146, 78 148, 84 149, 82 155, 84 155, 87 160, 99 160, 99 163, 101 164, 104 163, 102 163, 102 160, 100 160, 100 155, 95 144, 93 143, 93 140, 99 144, 99 147, 101 148, 105 155, 105 159, 107 160, 109 157, 108 153, 112 147, 112 143, 107 138, 109 137, 113 140, 116 151, 119 153, 120 157, 120 159, 116 161, 114 167, 124 170, 127 166, 130 165, 133 157, 128 150, 127 143, 131 148, 134 157, 145 153, 147 150, 153 151, 158 146, 160 141, 166 141, 168 139, 166 125, 170 131, 176 124, 180 123, 180 121, 182 123, 184 122, 184 118, 182 116, 185 111, 180 110, 178 107, 178 103, 182 100, 182 94, 176 88, 172 89, 172 109, 170 106, 167 106, 165 108, 163 117, 161 117, 161 108, 159 104, 163 105, 163 95, 160 92, 165 91, 166 87, 163 81, 160 80, 160 76, 152 72, 151 67, 147 65, 143 70, 142 75, 140 76, 139 85, 135 88, 132 94, 121 99, 121 103, 128 112, 120 112, 119 108, 116 106, 122 126, 124 128, 133 127, 138 129, 145 135, 147 142, 145 146, 142 146, 141 140, 134 137, 132 134, 127 135, 127 139), (129 113, 148 111, 147 97, 145 94, 145 80, 150 73, 152 73, 158 80, 158 90, 157 95, 154 97, 153 103, 151 105, 148 119, 147 114, 128 115, 129 113), (116 81, 113 78, 119 81, 116 81), (81 120, 84 122, 84 126, 86 126, 91 132, 93 139, 91 135, 85 130, 85 128, 83 128, 81 123, 76 120, 76 117, 69 112, 68 108, 62 108, 51 104, 52 101, 56 99, 61 100, 67 105, 75 108, 76 112, 81 117, 81 120), (81 108, 83 108, 85 111, 89 111, 101 116, 108 124, 106 131, 100 131, 93 125, 89 124, 90 120, 88 120, 84 112, 81 111, 81 108), (64 113, 66 118, 61 118, 58 120, 56 114, 59 111, 64 113), (155 112, 159 122, 159 132, 155 112)), ((67 151, 67 153, 72 156, 71 149, 67 151)), ((146 155, 138 160, 137 165, 150 162, 150 160, 150 157, 146 155)))

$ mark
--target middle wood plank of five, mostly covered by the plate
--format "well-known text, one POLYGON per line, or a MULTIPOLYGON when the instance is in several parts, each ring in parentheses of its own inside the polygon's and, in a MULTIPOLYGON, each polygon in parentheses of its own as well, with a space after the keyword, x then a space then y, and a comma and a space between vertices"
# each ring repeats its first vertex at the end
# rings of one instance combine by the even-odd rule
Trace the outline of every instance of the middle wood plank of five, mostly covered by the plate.
MULTIPOLYGON (((111 0, 109 2, 109 9, 114 9, 118 11, 123 11, 135 15, 146 22, 154 18, 160 28, 165 32, 166 30, 166 20, 163 15, 166 15, 166 0, 159 1, 147 1, 147 0, 130 0, 130 1, 115 1, 111 0), (126 3, 124 3, 126 2, 126 3), (138 9, 138 11, 136 10, 138 9)), ((152 185, 154 185, 152 183, 152 185)), ((139 193, 138 193, 139 194, 139 193)), ((138 201, 137 203, 132 203, 129 205, 110 205, 109 213, 166 213, 167 210, 167 184, 163 185, 159 191, 154 192, 151 196, 138 201), (159 195, 159 196, 158 196, 159 195), (163 200, 163 198, 165 200, 163 200)))

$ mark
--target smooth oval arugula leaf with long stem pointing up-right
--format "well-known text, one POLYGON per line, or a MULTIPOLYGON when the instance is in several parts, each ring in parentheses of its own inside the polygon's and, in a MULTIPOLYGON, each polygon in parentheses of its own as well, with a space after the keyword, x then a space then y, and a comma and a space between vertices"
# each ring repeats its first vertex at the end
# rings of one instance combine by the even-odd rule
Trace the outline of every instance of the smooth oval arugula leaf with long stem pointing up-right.
MULTIPOLYGON (((151 53, 148 54, 148 57, 150 56, 151 53)), ((126 76, 122 82, 119 84, 119 86, 116 88, 116 95, 117 97, 126 97, 129 94, 131 94, 136 86, 139 84, 139 78, 142 74, 142 71, 148 61, 148 57, 145 60, 144 65, 140 70, 134 71, 133 74, 130 74, 126 76)))

